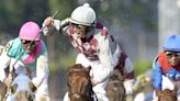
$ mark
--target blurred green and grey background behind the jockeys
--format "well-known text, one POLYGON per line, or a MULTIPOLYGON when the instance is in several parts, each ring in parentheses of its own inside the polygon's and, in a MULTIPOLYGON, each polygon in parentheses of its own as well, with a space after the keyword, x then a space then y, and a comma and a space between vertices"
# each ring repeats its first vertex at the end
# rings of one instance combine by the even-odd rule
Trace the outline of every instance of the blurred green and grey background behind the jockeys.
MULTIPOLYGON (((86 2, 133 60, 136 76, 151 68, 166 37, 180 32, 180 0, 0 0, 0 44, 16 37, 26 21, 42 26, 58 10, 56 19, 64 20, 86 2)), ((49 54, 50 97, 59 101, 67 90, 66 68, 75 64, 77 53, 67 36, 42 37, 49 54)))

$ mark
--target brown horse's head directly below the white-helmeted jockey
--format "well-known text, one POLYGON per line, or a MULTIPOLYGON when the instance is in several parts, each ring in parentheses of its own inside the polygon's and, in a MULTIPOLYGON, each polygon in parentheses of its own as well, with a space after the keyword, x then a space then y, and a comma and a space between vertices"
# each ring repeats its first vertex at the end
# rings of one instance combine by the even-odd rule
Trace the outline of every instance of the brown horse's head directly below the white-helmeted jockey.
POLYGON ((76 64, 68 69, 68 96, 70 101, 94 101, 91 78, 91 67, 85 68, 76 64))

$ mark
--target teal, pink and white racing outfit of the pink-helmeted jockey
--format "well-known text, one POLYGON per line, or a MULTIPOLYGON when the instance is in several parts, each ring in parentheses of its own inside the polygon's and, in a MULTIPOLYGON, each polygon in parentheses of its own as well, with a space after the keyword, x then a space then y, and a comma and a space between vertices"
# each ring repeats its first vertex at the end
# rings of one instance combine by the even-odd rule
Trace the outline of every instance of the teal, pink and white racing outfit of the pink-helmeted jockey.
POLYGON ((37 87, 37 93, 48 94, 48 59, 47 49, 43 41, 32 53, 26 53, 19 37, 10 41, 0 56, 0 80, 7 78, 8 66, 15 69, 15 74, 31 74, 32 82, 37 87), (14 64, 15 63, 15 64, 14 64), (25 67, 25 68, 24 68, 25 67), (29 70, 26 69, 29 68, 29 70))

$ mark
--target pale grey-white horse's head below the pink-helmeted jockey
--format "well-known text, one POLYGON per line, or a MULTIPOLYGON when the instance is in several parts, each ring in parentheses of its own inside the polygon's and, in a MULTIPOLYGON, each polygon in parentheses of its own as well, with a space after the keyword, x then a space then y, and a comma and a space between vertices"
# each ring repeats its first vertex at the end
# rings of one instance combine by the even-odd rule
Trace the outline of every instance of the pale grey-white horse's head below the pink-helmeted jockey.
POLYGON ((35 90, 29 76, 19 74, 8 89, 5 101, 33 101, 35 90))

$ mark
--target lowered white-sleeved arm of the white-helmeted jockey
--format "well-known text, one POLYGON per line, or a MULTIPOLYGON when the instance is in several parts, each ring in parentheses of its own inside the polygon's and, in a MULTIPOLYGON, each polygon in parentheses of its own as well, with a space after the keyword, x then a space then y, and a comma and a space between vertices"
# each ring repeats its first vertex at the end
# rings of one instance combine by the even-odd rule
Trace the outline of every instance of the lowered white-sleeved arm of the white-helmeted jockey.
POLYGON ((102 66, 101 70, 99 70, 98 74, 93 75, 93 83, 99 83, 106 80, 113 71, 114 67, 108 38, 101 37, 98 50, 98 56, 102 66))

